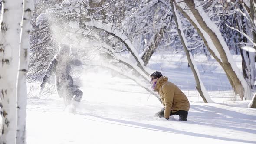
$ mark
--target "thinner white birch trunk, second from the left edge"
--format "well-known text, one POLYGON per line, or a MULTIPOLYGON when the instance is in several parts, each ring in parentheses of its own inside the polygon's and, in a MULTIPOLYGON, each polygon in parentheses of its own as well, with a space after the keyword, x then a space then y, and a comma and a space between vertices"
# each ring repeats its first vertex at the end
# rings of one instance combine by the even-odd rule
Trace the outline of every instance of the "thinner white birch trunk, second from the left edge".
POLYGON ((17 131, 16 144, 26 143, 26 72, 30 53, 31 18, 33 13, 33 0, 23 1, 23 16, 20 34, 19 71, 17 78, 17 131))

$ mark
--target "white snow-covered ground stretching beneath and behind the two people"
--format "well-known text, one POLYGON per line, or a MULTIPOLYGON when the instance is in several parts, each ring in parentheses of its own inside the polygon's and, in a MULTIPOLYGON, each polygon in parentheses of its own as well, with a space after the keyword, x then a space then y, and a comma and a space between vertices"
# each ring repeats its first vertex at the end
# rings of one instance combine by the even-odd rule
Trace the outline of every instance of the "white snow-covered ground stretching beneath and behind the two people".
MULTIPOLYGON (((214 104, 204 104, 182 55, 156 55, 149 62, 177 84, 190 100, 188 121, 154 118, 162 108, 153 95, 133 81, 108 71, 85 71, 84 92, 76 114, 64 112, 62 98, 37 97, 27 105, 28 144, 256 144, 256 109, 235 97, 216 62, 195 57, 201 78, 214 104)), ((234 56, 237 62, 239 56, 234 56)), ((237 63, 240 68, 240 63, 237 63)))

